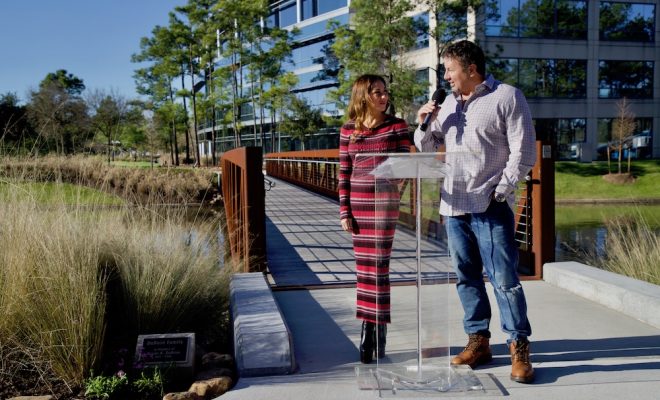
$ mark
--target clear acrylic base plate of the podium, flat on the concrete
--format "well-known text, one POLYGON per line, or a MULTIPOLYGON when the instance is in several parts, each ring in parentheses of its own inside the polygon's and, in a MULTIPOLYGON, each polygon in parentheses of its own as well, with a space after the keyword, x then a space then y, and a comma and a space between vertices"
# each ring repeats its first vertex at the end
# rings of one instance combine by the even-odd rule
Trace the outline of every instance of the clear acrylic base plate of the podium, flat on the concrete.
POLYGON ((358 387, 374 390, 379 397, 438 397, 469 392, 486 394, 472 368, 467 365, 363 365, 355 367, 358 387))

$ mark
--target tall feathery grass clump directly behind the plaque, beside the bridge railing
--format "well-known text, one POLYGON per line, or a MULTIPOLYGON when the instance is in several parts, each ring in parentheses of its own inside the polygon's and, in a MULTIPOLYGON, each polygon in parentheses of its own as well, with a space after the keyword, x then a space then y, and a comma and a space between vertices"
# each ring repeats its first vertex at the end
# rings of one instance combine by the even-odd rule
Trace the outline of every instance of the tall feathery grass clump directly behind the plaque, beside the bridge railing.
POLYGON ((113 331, 209 336, 204 333, 214 329, 214 321, 228 318, 218 224, 188 221, 182 208, 140 208, 107 227, 106 251, 116 266, 113 331))

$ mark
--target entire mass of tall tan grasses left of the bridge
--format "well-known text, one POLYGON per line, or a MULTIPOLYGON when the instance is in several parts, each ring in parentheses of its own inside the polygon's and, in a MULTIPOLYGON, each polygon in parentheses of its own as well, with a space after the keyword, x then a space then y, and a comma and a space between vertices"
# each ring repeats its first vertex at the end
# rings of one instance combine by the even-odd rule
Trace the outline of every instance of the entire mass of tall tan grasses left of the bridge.
POLYGON ((116 372, 116 351, 142 333, 228 341, 216 219, 70 192, 58 201, 24 177, 0 182, 0 380, 29 370, 36 387, 80 387, 92 370, 116 372))

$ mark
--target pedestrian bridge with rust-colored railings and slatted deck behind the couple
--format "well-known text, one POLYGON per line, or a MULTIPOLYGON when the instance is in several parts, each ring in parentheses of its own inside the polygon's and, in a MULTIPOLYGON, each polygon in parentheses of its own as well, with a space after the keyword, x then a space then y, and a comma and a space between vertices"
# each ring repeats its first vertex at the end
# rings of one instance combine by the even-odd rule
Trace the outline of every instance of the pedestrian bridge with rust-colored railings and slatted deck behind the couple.
MULTIPOLYGON (((542 265, 554 260, 551 145, 537 141, 537 153, 514 210, 522 279, 540 279, 542 265)), ((262 156, 261 148, 248 147, 225 153, 222 191, 231 254, 239 270, 268 272, 276 287, 355 284, 351 235, 339 223, 338 171, 337 149, 262 156)), ((414 281, 418 259, 425 281, 451 279, 444 228, 437 218, 416 210, 416 185, 407 180, 402 188, 390 262, 393 284, 414 281), (418 220, 428 232, 419 258, 418 220)))

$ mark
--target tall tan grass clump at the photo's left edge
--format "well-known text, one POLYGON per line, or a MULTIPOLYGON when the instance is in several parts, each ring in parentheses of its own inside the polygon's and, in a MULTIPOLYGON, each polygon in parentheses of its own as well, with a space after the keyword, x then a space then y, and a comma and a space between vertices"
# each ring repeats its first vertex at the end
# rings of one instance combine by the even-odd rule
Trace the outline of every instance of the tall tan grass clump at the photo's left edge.
POLYGON ((80 382, 104 338, 102 233, 80 210, 17 198, 10 187, 0 203, 0 338, 42 375, 80 382))

